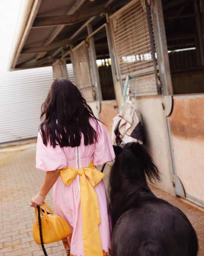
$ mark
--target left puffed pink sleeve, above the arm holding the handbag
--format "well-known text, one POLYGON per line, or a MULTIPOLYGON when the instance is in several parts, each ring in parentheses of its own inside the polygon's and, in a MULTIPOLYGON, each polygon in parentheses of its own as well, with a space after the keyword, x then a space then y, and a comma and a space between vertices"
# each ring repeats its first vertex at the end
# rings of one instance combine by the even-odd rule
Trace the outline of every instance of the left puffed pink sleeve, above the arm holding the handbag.
POLYGON ((53 148, 50 143, 47 143, 47 146, 45 146, 42 142, 40 131, 38 131, 36 168, 43 171, 54 171, 66 167, 67 159, 63 149, 59 145, 53 148))

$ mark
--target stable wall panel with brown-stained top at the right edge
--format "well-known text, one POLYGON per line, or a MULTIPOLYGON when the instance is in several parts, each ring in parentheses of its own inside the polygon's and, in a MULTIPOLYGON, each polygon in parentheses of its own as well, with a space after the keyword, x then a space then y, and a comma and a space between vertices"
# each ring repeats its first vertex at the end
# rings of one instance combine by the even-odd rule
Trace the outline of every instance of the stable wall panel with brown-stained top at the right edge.
POLYGON ((177 177, 186 198, 204 205, 204 95, 173 96, 169 119, 177 177))

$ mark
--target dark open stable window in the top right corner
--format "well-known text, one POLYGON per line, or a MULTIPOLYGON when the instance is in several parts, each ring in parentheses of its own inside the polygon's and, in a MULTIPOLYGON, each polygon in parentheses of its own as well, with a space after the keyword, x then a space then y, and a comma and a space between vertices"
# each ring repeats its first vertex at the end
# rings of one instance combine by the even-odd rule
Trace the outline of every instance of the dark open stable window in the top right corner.
POLYGON ((203 1, 162 0, 174 94, 204 93, 203 1))

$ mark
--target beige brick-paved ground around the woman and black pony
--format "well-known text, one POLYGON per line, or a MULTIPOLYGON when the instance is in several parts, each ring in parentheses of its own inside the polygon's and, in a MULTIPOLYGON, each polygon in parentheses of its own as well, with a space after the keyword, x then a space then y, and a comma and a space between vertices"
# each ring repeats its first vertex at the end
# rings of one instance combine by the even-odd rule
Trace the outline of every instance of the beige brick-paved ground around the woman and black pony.
MULTIPOLYGON (((106 167, 105 172, 108 172, 106 167)), ((43 256, 32 237, 34 211, 31 198, 38 193, 44 172, 35 170, 35 146, 0 152, 0 256, 43 256)), ((105 183, 108 183, 106 175, 105 183)), ((199 238, 199 256, 204 256, 204 213, 180 199, 151 187, 155 195, 180 208, 193 224, 199 238)), ((53 207, 51 192, 47 203, 53 207)), ((65 256, 61 242, 45 245, 49 256, 65 256)))

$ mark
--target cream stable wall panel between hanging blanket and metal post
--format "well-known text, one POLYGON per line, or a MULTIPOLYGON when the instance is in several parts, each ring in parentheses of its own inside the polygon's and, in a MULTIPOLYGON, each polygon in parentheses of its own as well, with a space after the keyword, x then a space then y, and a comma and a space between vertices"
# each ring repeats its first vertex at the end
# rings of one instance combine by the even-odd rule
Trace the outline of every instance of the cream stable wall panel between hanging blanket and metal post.
POLYGON ((162 182, 157 182, 156 186, 171 195, 175 195, 166 118, 162 108, 162 96, 137 97, 136 108, 137 111, 142 113, 142 120, 146 131, 146 145, 162 173, 162 182))

